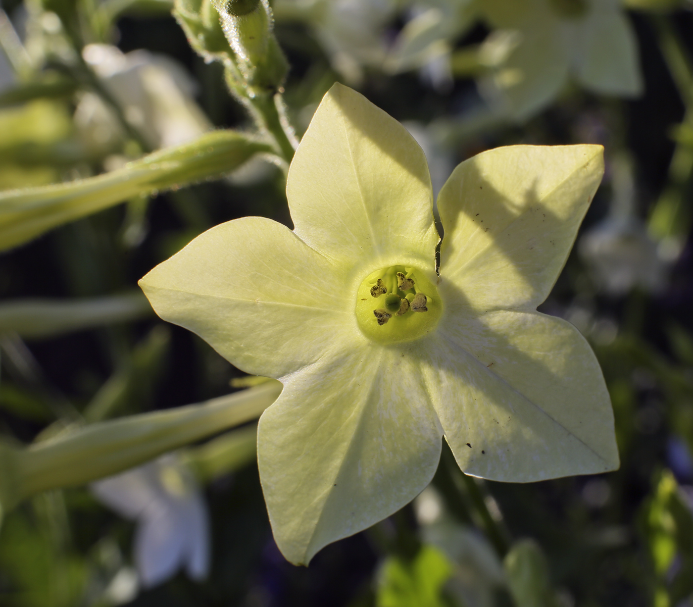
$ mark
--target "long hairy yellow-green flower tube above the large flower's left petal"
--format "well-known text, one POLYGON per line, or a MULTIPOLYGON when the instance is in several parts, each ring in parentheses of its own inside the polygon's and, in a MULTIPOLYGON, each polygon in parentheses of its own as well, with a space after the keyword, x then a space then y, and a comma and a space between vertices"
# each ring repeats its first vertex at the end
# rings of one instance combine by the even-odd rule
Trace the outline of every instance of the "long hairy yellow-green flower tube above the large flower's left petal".
POLYGON ((218 179, 254 154, 271 151, 267 143, 245 134, 214 131, 112 173, 0 193, 0 251, 137 195, 218 179))

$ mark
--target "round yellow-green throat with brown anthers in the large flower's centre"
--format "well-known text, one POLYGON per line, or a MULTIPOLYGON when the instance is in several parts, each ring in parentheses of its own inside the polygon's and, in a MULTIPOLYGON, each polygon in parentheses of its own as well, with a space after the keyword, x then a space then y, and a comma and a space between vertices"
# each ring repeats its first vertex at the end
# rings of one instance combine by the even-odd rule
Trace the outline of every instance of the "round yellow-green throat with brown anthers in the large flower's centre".
POLYGON ((356 294, 361 331, 380 343, 410 342, 438 324, 438 290, 416 267, 393 265, 366 276, 356 294))

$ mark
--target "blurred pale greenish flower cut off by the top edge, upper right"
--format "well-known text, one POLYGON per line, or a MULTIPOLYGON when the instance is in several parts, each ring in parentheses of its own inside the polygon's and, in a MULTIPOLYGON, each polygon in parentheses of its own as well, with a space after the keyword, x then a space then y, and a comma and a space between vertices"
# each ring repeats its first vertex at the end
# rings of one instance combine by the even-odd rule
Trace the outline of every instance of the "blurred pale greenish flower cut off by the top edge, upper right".
POLYGON ((495 30, 480 60, 491 73, 480 91, 491 105, 525 121, 552 103, 568 81, 597 94, 642 91, 635 35, 620 0, 483 0, 495 30))

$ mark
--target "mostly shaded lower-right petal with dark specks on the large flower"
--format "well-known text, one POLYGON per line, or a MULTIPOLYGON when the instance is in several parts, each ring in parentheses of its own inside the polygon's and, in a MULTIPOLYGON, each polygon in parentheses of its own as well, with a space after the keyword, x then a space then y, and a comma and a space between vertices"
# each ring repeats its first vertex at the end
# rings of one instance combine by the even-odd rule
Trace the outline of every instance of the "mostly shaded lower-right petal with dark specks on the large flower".
POLYGON ((423 375, 465 473, 531 482, 618 467, 602 371, 576 328, 536 311, 447 312, 423 375))

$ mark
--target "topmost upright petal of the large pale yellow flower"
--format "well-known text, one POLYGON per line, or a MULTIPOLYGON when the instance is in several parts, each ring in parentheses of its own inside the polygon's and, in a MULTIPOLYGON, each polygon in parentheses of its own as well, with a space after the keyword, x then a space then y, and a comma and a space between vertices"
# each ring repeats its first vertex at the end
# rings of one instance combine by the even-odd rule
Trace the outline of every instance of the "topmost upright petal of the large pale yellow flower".
POLYGON ((438 234, 426 157, 394 118, 335 84, 291 163, 286 195, 295 232, 348 263, 406 252, 432 267, 438 234))

